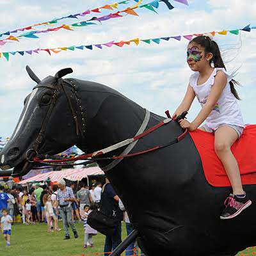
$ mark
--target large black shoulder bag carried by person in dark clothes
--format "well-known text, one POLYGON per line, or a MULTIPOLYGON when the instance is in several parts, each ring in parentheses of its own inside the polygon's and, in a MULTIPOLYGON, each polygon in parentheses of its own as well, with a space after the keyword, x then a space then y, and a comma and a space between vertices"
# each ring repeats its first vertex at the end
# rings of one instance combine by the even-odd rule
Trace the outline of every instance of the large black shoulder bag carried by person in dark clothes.
POLYGON ((118 221, 116 218, 107 216, 100 211, 93 210, 88 215, 87 223, 90 225, 90 227, 94 228, 105 236, 112 236, 120 221, 118 221))

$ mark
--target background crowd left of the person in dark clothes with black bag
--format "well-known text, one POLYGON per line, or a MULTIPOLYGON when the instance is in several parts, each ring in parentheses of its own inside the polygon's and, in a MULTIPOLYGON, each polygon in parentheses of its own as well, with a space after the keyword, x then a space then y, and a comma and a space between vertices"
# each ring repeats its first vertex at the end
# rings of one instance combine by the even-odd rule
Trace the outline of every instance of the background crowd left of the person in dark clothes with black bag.
MULTIPOLYGON (((102 184, 98 182, 92 184, 89 190, 88 186, 81 182, 76 189, 74 182, 66 186, 65 180, 60 180, 58 184, 52 186, 35 183, 29 189, 19 185, 12 184, 9 187, 0 184, 0 218, 6 245, 10 246, 9 233, 11 233, 12 223, 19 222, 20 216, 20 221, 24 225, 47 223, 47 232, 60 231, 58 221, 62 220, 64 239, 70 239, 68 225, 72 228, 74 237, 77 238, 74 222, 84 223, 84 228, 88 226, 86 225, 87 216, 92 211, 91 205, 98 205, 100 202, 101 186, 102 184)), ((97 234, 97 231, 93 230, 93 234, 97 234)), ((92 247, 91 236, 88 236, 84 248, 87 247, 87 240, 92 247)))

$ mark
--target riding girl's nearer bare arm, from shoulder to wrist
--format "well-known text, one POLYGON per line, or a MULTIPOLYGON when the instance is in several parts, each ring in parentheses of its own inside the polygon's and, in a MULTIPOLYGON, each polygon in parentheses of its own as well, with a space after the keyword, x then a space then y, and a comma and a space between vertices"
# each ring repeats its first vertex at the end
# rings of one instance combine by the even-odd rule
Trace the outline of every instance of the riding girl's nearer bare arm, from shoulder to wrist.
POLYGON ((207 98, 204 107, 201 109, 195 120, 191 123, 193 128, 199 127, 202 122, 210 115, 212 109, 214 109, 216 102, 220 99, 220 95, 223 92, 227 84, 227 77, 222 71, 218 71, 215 76, 214 84, 212 85, 211 92, 207 98))

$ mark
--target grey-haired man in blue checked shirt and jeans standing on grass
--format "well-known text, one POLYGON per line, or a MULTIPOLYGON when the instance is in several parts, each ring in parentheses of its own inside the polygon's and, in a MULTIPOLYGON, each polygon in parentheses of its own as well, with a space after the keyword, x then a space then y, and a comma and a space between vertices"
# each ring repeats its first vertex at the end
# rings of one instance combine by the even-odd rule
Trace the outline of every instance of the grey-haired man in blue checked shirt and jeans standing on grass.
POLYGON ((60 205, 60 212, 63 222, 63 228, 65 231, 65 238, 70 239, 68 225, 72 228, 74 237, 77 238, 77 230, 75 224, 72 222, 72 207, 71 204, 75 200, 74 193, 71 188, 66 187, 65 180, 60 180, 58 182, 60 189, 57 191, 57 203, 56 203, 56 213, 59 214, 58 205, 60 205))

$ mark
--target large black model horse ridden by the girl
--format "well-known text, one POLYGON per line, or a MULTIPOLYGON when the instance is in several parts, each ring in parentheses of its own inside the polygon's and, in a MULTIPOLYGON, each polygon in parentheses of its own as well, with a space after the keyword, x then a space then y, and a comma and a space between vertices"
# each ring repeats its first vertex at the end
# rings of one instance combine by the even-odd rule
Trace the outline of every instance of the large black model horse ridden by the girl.
MULTIPOLYGON (((67 86, 67 90, 70 90, 70 93, 76 90, 79 95, 77 104, 81 106, 81 111, 86 113, 85 138, 76 138, 70 109, 59 102, 56 105, 58 109, 52 112, 52 115, 58 115, 49 119, 50 124, 52 121, 54 125, 49 125, 45 131, 45 140, 38 149, 39 154, 56 154, 66 149, 64 147, 74 144, 84 152, 93 152, 132 138, 136 134, 143 122, 145 109, 108 86, 78 79, 64 79, 64 84, 65 81, 67 84, 71 81, 76 85, 76 89, 67 86), (60 132, 66 128, 68 136, 60 136, 60 132), (52 144, 52 141, 55 144, 52 144)), ((43 80, 40 83, 45 82, 43 80)), ((51 89, 39 88, 38 92, 44 93, 49 90, 51 89)), ((35 106, 32 105, 30 108, 30 111, 33 111, 35 106)), ((36 124, 42 125, 42 113, 39 116, 40 122, 36 124)), ((163 116, 151 113, 147 128, 163 119, 163 116)), ((22 140, 35 138, 36 131, 38 127, 26 131, 26 134, 30 133, 26 138, 23 134, 22 140)), ((141 138, 131 153, 163 145, 182 132, 177 122, 170 122, 141 138)), ((1 156, 8 156, 8 152, 14 147, 13 141, 11 138, 1 156)), ((29 149, 28 144, 31 147, 31 143, 24 144, 27 145, 26 150, 29 149)), ((115 150, 114 154, 119 155, 122 150, 124 148, 115 150)), ((23 163, 24 152, 19 156, 23 157, 21 160, 7 159, 2 164, 15 166, 20 161, 23 163)), ((19 157, 17 155, 13 158, 19 157)), ((109 161, 99 161, 102 168, 108 163, 109 161)), ((252 204, 237 218, 220 220, 223 201, 231 189, 214 188, 208 184, 200 155, 189 134, 170 147, 124 158, 106 175, 116 193, 122 198, 131 222, 139 232, 141 247, 148 256, 159 255, 159 252, 161 255, 175 256, 235 255, 255 244, 255 205, 252 204)), ((246 191, 255 202, 255 186, 247 185, 246 191)))

